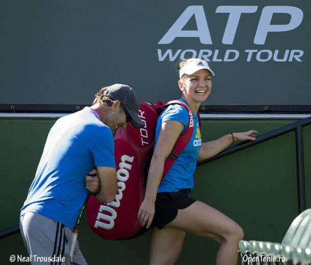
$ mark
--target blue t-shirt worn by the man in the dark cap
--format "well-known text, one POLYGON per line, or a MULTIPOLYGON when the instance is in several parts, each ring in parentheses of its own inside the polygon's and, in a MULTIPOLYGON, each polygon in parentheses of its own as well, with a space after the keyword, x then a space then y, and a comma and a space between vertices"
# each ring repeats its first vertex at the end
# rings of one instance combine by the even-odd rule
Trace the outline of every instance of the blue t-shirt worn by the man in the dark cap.
POLYGON ((20 215, 31 211, 73 229, 87 195, 85 176, 95 166, 116 167, 108 126, 87 109, 51 128, 20 215))

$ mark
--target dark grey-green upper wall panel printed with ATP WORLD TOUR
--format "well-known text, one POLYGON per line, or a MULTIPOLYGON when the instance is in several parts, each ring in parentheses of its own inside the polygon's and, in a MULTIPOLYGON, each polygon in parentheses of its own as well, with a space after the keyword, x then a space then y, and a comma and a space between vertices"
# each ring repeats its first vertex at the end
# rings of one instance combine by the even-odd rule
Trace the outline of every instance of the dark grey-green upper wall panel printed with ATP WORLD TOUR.
POLYGON ((114 83, 132 86, 143 102, 166 102, 179 94, 179 58, 203 57, 216 74, 203 105, 310 105, 310 8, 309 0, 2 0, 0 104, 87 105, 114 83), (257 44, 271 6, 285 7, 271 20, 283 29, 268 26, 257 44), (169 34, 180 37, 161 43, 180 17, 185 27, 169 34), (285 30, 290 21, 297 27, 285 30), (228 33, 231 44, 223 41, 228 33), (236 60, 225 60, 230 51, 239 53, 236 60), (301 56, 290 59, 293 52, 301 56))

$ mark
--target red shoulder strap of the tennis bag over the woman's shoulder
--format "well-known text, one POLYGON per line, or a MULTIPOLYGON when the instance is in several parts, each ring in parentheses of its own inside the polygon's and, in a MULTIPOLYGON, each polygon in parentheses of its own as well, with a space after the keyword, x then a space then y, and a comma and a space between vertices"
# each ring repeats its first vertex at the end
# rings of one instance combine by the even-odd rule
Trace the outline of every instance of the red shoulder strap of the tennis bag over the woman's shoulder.
POLYGON ((169 102, 159 106, 159 108, 163 108, 163 107, 166 107, 166 106, 171 105, 171 104, 178 104, 180 106, 183 106, 189 113, 189 121, 188 121, 188 125, 187 125, 185 131, 182 133, 182 135, 179 136, 179 138, 175 142, 175 145, 174 145, 170 155, 165 160, 164 170, 163 170, 163 175, 162 175, 161 181, 163 180, 164 176, 166 175, 166 173, 168 172, 168 170, 170 169, 170 167, 172 166, 174 161, 178 158, 180 153, 182 153, 183 150, 186 148, 186 146, 187 146, 187 144, 188 144, 188 142, 192 136, 193 128, 194 128, 192 112, 191 112, 190 108, 187 106, 187 104, 185 104, 184 102, 179 101, 179 100, 172 100, 172 101, 169 101, 169 102))

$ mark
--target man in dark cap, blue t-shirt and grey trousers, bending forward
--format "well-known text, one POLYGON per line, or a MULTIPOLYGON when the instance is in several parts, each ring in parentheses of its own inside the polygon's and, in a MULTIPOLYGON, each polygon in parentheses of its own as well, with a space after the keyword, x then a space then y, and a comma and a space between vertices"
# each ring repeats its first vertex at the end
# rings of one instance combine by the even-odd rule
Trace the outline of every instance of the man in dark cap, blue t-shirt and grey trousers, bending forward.
MULTIPOLYGON (((72 229, 88 190, 95 192, 100 202, 115 199, 118 186, 112 130, 126 128, 127 123, 143 127, 138 109, 135 91, 115 84, 102 88, 91 107, 58 119, 51 128, 20 213, 21 235, 32 263, 61 256, 62 264, 70 264, 72 229), (85 178, 96 172, 94 169, 100 181, 85 178)), ((50 259, 47 263, 54 264, 50 259)), ((75 245, 73 263, 86 264, 79 244, 75 245)))

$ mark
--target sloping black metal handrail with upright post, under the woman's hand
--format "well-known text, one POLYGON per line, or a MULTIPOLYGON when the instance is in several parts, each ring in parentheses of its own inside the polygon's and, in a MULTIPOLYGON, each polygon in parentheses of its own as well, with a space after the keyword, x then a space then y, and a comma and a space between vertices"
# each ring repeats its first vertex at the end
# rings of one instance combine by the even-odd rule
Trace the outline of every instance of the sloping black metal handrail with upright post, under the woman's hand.
MULTIPOLYGON (((299 214, 305 210, 305 188, 304 188, 304 161, 303 161, 303 135, 302 135, 302 127, 311 124, 311 117, 302 119, 301 121, 283 126, 276 130, 264 133, 256 137, 254 141, 246 141, 235 144, 232 147, 228 147, 218 155, 211 157, 209 159, 202 160, 197 163, 197 166, 209 163, 221 157, 236 153, 238 151, 244 150, 246 148, 255 146, 261 142, 265 142, 267 140, 273 139, 275 137, 281 136, 283 134, 295 131, 296 134, 296 164, 297 164, 297 188, 298 188, 298 211, 299 214)), ((19 233, 19 226, 14 226, 8 228, 6 230, 0 231, 0 239, 8 237, 10 235, 19 233)))

